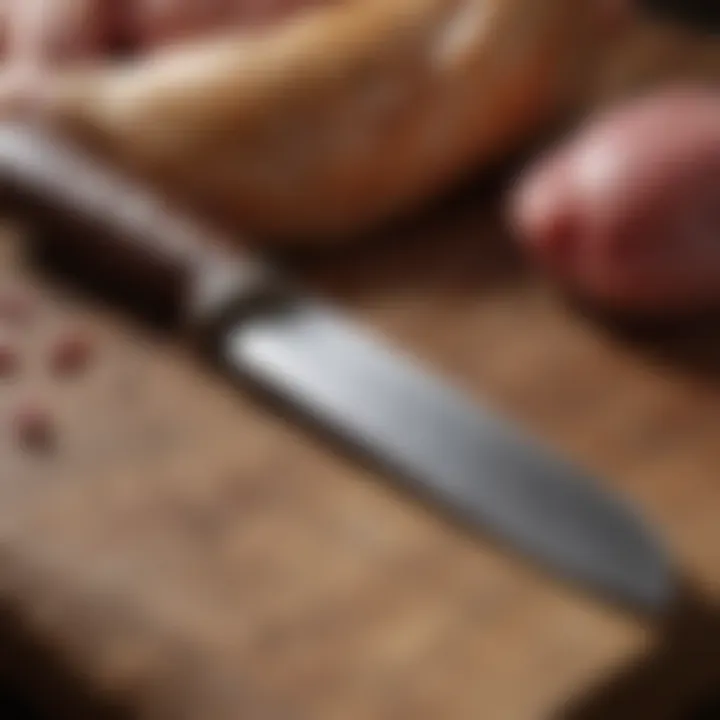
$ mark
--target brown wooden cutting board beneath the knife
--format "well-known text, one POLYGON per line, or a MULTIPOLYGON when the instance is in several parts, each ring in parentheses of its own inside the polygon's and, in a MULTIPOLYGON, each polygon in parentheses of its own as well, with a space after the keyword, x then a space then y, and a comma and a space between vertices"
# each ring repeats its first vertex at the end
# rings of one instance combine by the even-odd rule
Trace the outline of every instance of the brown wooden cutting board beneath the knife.
POLYGON ((565 306, 501 185, 296 269, 636 502, 687 576, 673 617, 465 534, 7 232, 2 286, 37 306, 0 387, 2 674, 51 717, 148 720, 654 720, 720 688, 717 322, 628 336, 565 306), (77 325, 97 357, 53 377, 77 325), (47 452, 18 447, 25 403, 55 417, 47 452))

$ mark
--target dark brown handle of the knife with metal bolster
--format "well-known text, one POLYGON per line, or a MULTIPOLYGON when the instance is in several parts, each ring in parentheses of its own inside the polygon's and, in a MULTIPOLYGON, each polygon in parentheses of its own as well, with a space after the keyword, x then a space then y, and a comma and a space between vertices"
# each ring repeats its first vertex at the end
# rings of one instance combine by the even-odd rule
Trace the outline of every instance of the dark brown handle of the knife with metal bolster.
POLYGON ((257 260, 39 128, 0 126, 0 198, 96 282, 124 284, 203 334, 282 288, 257 260))

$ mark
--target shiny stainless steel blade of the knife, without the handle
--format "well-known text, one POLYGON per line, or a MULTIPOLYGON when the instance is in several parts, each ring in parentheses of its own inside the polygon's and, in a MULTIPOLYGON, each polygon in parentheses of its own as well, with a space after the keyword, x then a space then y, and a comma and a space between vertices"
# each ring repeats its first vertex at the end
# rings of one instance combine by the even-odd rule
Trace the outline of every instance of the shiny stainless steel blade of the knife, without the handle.
POLYGON ((659 610, 668 559, 584 473, 331 309, 246 316, 225 360, 465 520, 609 599, 659 610))

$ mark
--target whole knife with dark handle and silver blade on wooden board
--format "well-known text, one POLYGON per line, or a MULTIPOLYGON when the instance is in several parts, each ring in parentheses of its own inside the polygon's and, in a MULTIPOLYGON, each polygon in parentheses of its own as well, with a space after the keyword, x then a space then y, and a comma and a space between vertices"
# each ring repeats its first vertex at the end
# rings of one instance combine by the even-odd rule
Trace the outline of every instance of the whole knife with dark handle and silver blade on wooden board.
POLYGON ((408 488, 558 580, 670 606, 668 556, 632 508, 237 243, 38 128, 0 127, 0 188, 63 256, 162 305, 230 374, 408 488))

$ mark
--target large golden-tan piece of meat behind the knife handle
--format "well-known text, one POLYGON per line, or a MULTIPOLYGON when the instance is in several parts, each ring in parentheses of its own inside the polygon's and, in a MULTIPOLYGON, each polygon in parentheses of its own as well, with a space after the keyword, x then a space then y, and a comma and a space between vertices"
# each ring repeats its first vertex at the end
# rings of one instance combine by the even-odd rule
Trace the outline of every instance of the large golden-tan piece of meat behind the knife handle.
POLYGON ((56 76, 48 117, 251 236, 337 239, 528 139, 596 48, 577 0, 252 2, 160 3, 132 32, 162 48, 56 76), (212 12, 235 21, 188 39, 212 12))

